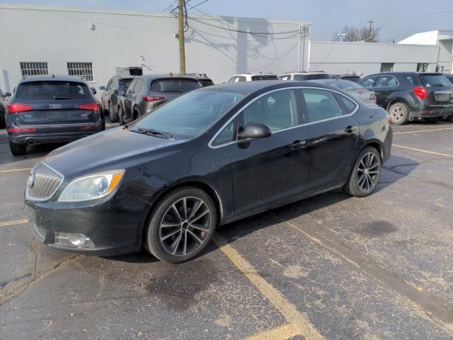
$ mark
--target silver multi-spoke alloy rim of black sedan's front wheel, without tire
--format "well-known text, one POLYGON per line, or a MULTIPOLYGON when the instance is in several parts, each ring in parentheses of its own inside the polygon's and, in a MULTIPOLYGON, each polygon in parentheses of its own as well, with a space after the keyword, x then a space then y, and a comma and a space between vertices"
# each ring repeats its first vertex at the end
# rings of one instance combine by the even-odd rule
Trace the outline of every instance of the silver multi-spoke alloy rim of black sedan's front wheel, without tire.
POLYGON ((159 239, 172 255, 187 256, 209 239, 212 212, 200 198, 184 197, 168 208, 159 226, 159 239))

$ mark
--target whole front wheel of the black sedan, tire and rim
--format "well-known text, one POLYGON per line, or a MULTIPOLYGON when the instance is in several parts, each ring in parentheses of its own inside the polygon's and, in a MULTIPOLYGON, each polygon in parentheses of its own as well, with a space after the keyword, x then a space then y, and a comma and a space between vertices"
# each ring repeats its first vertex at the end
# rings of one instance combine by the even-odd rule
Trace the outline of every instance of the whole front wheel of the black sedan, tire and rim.
POLYGON ((216 225, 217 210, 212 198, 200 188, 185 186, 167 193, 156 204, 144 243, 157 259, 182 263, 205 249, 216 225), (200 224, 195 225, 195 221, 200 224))

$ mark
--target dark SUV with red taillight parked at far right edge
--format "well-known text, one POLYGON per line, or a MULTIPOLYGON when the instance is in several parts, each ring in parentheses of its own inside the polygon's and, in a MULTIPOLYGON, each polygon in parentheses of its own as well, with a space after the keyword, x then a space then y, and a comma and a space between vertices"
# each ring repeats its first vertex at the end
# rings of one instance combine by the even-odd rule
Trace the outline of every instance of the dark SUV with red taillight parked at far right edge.
POLYGON ((369 75, 359 84, 374 90, 377 105, 397 125, 417 118, 435 123, 453 115, 453 85, 444 74, 389 72, 369 75))

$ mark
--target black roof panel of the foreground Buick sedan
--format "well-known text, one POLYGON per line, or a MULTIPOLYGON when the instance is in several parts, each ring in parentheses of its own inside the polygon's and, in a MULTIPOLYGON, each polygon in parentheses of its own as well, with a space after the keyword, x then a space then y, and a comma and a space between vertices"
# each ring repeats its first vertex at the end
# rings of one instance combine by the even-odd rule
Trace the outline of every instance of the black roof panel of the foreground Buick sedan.
MULTIPOLYGON (((285 81, 285 80, 258 80, 258 81, 243 81, 239 83, 224 83, 224 84, 217 84, 209 87, 203 87, 202 89, 197 89, 195 91, 231 91, 235 92, 236 94, 252 94, 256 91, 270 91, 273 89, 285 89, 287 87, 294 87, 294 86, 309 86, 313 87, 314 82, 312 81, 285 81)), ((322 89, 334 89, 338 91, 338 89, 333 88, 333 86, 329 86, 326 84, 316 84, 316 87, 322 89)))

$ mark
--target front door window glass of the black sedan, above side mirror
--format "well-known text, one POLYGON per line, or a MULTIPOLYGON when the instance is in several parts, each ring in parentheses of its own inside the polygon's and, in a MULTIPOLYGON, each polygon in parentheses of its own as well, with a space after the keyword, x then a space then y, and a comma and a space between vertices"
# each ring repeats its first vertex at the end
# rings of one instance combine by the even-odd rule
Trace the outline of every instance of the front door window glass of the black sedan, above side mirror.
POLYGON ((241 115, 242 126, 247 123, 268 125, 271 131, 278 131, 299 125, 299 113, 294 90, 275 91, 253 101, 241 115))

